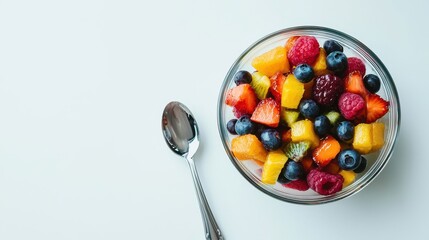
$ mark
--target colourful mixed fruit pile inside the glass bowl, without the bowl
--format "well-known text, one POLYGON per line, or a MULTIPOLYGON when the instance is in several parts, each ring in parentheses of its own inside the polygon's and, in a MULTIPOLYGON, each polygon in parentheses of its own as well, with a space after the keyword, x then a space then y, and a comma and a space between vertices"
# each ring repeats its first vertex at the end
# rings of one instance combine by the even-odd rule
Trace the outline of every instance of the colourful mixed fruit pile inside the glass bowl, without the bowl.
POLYGON ((331 195, 371 166, 384 146, 389 102, 379 76, 341 43, 293 36, 240 70, 225 104, 230 149, 261 166, 264 184, 331 195))

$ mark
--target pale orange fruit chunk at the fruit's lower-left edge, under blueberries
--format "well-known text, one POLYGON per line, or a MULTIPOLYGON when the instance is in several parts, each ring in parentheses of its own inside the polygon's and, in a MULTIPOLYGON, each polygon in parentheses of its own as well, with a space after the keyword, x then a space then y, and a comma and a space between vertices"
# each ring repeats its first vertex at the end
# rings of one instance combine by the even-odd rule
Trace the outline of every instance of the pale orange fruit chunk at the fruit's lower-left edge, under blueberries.
POLYGON ((267 150, 253 134, 238 136, 231 141, 231 151, 238 160, 265 162, 267 150))

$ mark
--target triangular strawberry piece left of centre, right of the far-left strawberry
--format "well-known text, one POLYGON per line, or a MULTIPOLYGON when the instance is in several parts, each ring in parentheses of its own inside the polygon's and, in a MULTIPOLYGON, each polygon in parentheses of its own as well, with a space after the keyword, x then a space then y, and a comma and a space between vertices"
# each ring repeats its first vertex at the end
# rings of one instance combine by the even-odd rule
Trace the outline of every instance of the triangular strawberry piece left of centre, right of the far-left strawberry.
POLYGON ((277 127, 280 122, 280 105, 272 98, 266 98, 258 103, 250 120, 268 127, 277 127))

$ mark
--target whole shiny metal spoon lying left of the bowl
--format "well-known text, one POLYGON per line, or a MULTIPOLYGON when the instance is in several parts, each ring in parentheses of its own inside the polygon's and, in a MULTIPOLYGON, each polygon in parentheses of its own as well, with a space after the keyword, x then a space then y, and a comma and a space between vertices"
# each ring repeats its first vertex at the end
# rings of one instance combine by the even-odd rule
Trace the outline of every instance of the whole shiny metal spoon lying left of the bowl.
POLYGON ((223 240, 222 233, 210 210, 192 157, 197 152, 198 125, 191 111, 180 102, 170 102, 162 114, 162 133, 170 149, 188 160, 198 196, 207 240, 223 240))

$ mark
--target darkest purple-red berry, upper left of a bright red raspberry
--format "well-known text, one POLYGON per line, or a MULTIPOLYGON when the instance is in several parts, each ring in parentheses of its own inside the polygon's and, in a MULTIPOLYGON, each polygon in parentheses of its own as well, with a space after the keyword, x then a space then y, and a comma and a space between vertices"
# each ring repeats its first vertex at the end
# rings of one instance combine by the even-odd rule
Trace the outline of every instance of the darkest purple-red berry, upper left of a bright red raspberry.
POLYGON ((322 106, 333 106, 344 91, 344 81, 332 74, 319 76, 313 86, 313 98, 322 106))

